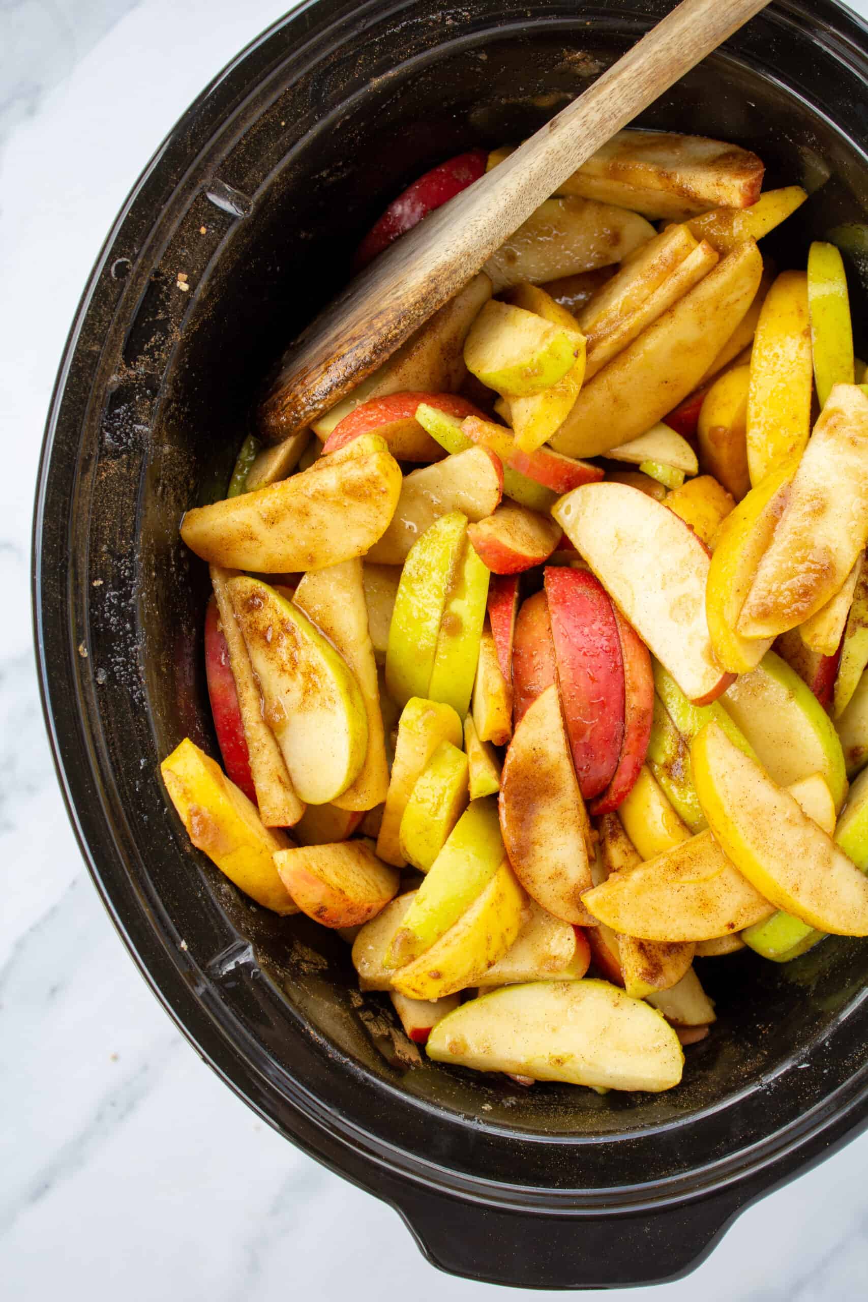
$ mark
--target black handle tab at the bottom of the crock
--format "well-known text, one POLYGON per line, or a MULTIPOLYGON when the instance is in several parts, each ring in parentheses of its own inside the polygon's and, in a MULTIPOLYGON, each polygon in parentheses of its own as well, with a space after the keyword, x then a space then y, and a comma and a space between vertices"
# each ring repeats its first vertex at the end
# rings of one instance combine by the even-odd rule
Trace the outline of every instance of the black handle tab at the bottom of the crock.
POLYGON ((590 1289, 687 1275, 747 1202, 730 1189, 644 1213, 566 1217, 405 1186, 396 1206, 441 1271, 511 1288, 590 1289))

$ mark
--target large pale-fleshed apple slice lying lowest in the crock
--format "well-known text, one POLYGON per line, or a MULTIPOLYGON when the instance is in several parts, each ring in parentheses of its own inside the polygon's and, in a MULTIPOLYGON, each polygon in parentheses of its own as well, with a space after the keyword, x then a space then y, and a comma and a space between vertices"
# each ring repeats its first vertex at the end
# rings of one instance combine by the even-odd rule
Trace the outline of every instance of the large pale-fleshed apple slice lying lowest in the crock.
POLYGON ((678 1085, 685 1061, 660 1013, 603 980, 531 982, 480 995, 444 1017, 427 1051, 478 1072, 655 1092, 678 1085))

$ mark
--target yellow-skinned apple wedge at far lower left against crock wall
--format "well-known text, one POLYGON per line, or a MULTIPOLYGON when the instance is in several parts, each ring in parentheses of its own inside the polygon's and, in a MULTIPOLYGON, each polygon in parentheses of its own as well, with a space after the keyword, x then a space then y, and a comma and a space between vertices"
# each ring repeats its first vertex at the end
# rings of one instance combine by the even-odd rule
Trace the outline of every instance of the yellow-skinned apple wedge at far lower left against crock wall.
POLYGON ((273 855, 293 842, 267 828, 256 806, 186 737, 160 764, 165 789, 197 849, 264 909, 298 913, 273 855))

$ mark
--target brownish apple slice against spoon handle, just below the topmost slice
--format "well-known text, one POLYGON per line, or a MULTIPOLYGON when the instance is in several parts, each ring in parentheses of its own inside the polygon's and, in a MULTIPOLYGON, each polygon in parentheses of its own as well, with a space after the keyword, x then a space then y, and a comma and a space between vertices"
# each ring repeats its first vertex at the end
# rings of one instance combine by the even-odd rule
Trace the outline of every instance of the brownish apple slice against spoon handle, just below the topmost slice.
POLYGON ((591 199, 547 199, 485 263, 495 293, 621 262, 655 228, 635 212, 591 199))

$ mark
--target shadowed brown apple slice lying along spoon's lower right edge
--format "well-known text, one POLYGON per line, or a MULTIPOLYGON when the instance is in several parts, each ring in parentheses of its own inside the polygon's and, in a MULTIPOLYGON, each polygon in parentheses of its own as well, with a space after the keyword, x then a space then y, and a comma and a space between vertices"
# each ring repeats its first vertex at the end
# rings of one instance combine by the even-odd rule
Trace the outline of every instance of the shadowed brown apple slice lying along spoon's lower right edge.
MULTIPOLYGON (((368 375, 337 406, 314 421, 312 428, 318 437, 324 443, 345 415, 372 398, 406 392, 453 393, 461 388, 467 375, 463 358, 467 331, 491 294, 492 283, 488 276, 484 272, 474 276, 373 375, 368 375)), ((275 413, 272 423, 278 424, 278 414, 275 413)), ((429 460, 433 448, 426 440, 424 432, 419 434, 420 441, 415 452, 422 453, 422 460, 429 460)))

